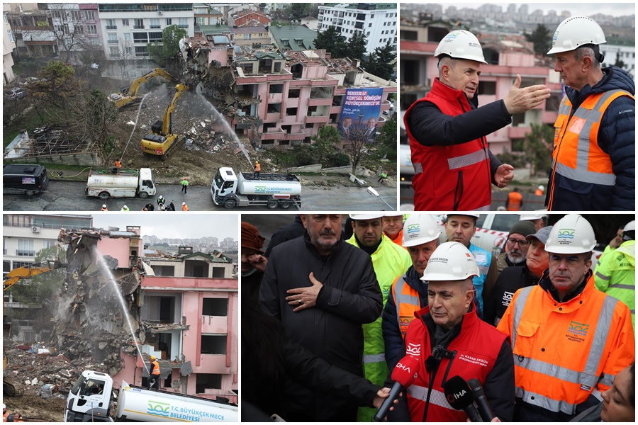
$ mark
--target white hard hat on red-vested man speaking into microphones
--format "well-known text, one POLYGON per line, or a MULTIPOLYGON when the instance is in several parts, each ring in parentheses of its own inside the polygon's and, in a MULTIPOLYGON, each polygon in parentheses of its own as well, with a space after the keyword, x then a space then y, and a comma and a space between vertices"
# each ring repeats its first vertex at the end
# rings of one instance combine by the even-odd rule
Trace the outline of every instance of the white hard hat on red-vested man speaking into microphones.
POLYGON ((444 242, 427 260, 421 280, 465 280, 470 276, 478 276, 478 266, 469 249, 459 242, 444 242))

